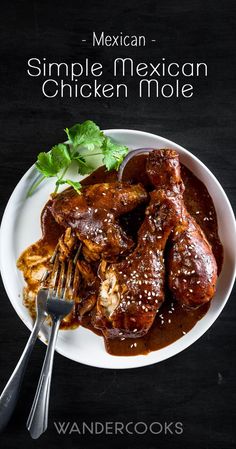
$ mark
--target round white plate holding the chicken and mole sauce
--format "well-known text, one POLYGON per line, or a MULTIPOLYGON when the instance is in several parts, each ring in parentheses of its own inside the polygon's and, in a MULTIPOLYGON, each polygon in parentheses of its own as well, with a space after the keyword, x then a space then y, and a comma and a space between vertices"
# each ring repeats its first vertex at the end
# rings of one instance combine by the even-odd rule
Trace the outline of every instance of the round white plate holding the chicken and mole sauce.
MULTIPOLYGON (((228 300, 235 278, 235 219, 219 182, 199 159, 181 146, 163 137, 141 131, 112 129, 105 133, 131 149, 153 147, 177 150, 181 161, 207 186, 216 208, 219 236, 224 247, 223 269, 216 295, 207 314, 175 343, 148 355, 115 357, 105 351, 103 339, 87 329, 80 327, 59 332, 56 350, 71 360, 101 368, 135 368, 160 362, 183 351, 201 337, 219 316, 228 300)), ((3 283, 14 309, 29 329, 32 329, 32 320, 22 304, 24 282, 22 273, 16 268, 16 260, 27 246, 41 236, 40 212, 54 188, 54 182, 47 181, 31 198, 26 199, 26 192, 35 176, 36 170, 31 167, 17 184, 5 209, 0 231, 0 269, 3 283)), ((48 337, 47 331, 46 327, 43 328, 40 335, 44 342, 48 337)))

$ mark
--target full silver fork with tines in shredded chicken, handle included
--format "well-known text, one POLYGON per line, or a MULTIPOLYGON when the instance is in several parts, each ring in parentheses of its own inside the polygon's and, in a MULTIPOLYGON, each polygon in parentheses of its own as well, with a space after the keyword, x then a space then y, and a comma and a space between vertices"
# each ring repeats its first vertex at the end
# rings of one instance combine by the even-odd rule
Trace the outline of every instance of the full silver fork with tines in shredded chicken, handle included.
POLYGON ((76 276, 76 268, 74 272, 74 261, 70 260, 66 267, 64 262, 59 261, 59 256, 55 255, 50 278, 51 284, 47 290, 46 310, 51 317, 52 328, 38 387, 26 425, 34 439, 39 438, 48 426, 50 385, 56 339, 61 320, 72 310, 73 296, 77 287, 78 276, 76 276))

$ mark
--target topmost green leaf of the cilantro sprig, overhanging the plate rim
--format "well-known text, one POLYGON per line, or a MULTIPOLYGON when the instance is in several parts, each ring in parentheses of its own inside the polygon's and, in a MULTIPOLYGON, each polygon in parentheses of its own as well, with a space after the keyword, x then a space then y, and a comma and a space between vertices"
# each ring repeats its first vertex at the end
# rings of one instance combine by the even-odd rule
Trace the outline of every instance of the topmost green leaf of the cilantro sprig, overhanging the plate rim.
POLYGON ((65 132, 73 147, 83 146, 91 151, 100 148, 104 140, 102 131, 91 120, 86 120, 81 125, 77 123, 72 128, 66 128, 65 132))

